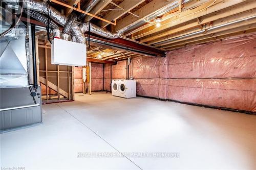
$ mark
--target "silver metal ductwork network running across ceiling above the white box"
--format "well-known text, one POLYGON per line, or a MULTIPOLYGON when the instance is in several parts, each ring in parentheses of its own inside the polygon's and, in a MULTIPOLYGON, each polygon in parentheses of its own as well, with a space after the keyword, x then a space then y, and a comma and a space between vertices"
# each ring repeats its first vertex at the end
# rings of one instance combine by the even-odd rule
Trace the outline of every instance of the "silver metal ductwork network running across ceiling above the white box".
MULTIPOLYGON (((15 1, 12 0, 4 0, 7 3, 15 4, 15 1)), ((190 0, 185 0, 184 3, 189 2, 190 0)), ((124 32, 131 30, 135 27, 139 27, 143 23, 145 23, 144 20, 134 22, 132 25, 125 27, 118 32, 110 32, 107 30, 104 30, 90 22, 84 22, 79 25, 79 27, 76 25, 75 20, 76 16, 71 15, 70 18, 67 18, 65 15, 62 15, 60 12, 58 12, 56 9, 50 7, 47 3, 41 2, 39 0, 24 0, 25 5, 24 7, 36 12, 44 13, 46 15, 50 15, 50 17, 59 23, 61 26, 65 27, 63 30, 63 37, 64 39, 68 39, 68 35, 70 33, 70 29, 72 30, 72 35, 76 38, 76 41, 79 43, 85 43, 86 38, 84 37, 84 32, 92 32, 94 34, 100 35, 105 38, 115 39, 120 37, 124 32)), ((87 6, 85 11, 90 11, 96 4, 98 3, 98 0, 92 0, 90 1, 90 4, 87 6)), ((170 3, 169 5, 165 6, 161 10, 158 10, 154 14, 148 16, 145 18, 145 20, 152 20, 155 17, 158 17, 170 10, 173 10, 178 6, 178 2, 175 1, 174 3, 170 3)), ((79 18, 83 17, 82 15, 79 16, 79 18)), ((44 22, 45 23, 45 22, 44 22)), ((72 38, 74 41, 75 38, 72 38)))

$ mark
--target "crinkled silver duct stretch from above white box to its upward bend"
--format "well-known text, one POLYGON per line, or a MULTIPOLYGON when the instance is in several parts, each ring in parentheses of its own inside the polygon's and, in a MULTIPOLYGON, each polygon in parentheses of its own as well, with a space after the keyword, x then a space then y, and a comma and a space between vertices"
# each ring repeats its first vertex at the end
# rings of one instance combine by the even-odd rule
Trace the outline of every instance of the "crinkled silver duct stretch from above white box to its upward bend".
POLYGON ((80 27, 81 31, 84 33, 84 32, 89 31, 89 26, 90 26, 90 32, 100 35, 105 38, 114 39, 114 38, 118 38, 121 36, 121 33, 113 33, 113 32, 104 30, 90 22, 81 23, 79 27, 80 27))

